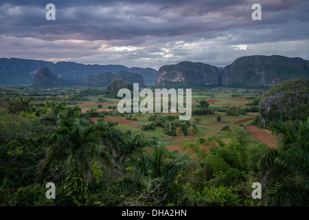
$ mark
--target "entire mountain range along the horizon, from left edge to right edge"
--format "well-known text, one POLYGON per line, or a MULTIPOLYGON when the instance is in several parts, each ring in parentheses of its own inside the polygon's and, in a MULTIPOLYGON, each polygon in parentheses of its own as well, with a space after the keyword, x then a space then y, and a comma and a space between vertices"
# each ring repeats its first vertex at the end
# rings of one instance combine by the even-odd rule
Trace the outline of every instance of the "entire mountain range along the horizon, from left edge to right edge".
POLYGON ((0 85, 34 83, 35 86, 45 86, 48 82, 44 82, 44 78, 49 78, 56 85, 91 87, 107 86, 117 79, 129 83, 139 82, 141 87, 144 87, 145 82, 154 84, 155 87, 259 88, 273 87, 286 80, 309 78, 309 61, 278 55, 255 55, 242 56, 225 67, 183 61, 175 65, 164 65, 157 71, 123 65, 83 65, 73 62, 55 64, 48 61, 0 58, 0 78, 0 85), (38 74, 38 69, 42 67, 48 68, 48 71, 45 69, 38 74), (37 78, 34 79, 36 75, 37 78))

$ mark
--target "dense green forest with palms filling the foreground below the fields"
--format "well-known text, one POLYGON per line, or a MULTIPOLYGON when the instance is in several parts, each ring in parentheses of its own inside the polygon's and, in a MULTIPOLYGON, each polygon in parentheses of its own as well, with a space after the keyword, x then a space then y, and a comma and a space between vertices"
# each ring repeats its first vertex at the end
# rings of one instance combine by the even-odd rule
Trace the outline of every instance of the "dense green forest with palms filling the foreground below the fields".
POLYGON ((249 142, 242 124, 222 131, 228 143, 216 136, 185 143, 195 125, 152 115, 142 129, 161 126, 182 142, 181 151, 168 151, 115 122, 93 122, 96 112, 34 101, 1 100, 0 206, 309 205, 309 120, 268 124, 278 140, 269 148, 249 142), (56 199, 45 197, 47 182, 56 184, 56 199), (262 183, 262 199, 252 199, 253 182, 262 183))

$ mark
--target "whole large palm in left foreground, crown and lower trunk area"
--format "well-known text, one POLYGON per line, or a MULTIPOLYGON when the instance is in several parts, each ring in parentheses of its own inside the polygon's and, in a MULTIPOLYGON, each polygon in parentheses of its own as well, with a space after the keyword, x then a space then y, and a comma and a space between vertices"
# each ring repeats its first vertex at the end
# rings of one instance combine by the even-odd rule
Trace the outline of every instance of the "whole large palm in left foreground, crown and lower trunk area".
POLYGON ((109 154, 102 143, 102 125, 80 118, 80 109, 69 107, 58 114, 56 129, 43 140, 46 157, 42 174, 65 179, 65 189, 76 203, 87 199, 87 184, 95 162, 109 165, 109 154))

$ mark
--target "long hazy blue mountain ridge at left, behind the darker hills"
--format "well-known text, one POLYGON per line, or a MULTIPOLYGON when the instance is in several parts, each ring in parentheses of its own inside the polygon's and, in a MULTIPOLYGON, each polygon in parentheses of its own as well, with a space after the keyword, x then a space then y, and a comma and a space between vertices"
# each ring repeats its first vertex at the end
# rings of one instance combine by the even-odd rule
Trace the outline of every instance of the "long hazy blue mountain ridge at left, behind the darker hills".
POLYGON ((58 62, 26 60, 21 58, 0 58, 0 85, 30 85, 38 71, 47 67, 58 78, 68 80, 83 80, 89 74, 111 72, 116 74, 122 70, 135 72, 145 76, 146 83, 155 83, 157 70, 151 68, 128 68, 124 65, 84 65, 74 62, 58 62))

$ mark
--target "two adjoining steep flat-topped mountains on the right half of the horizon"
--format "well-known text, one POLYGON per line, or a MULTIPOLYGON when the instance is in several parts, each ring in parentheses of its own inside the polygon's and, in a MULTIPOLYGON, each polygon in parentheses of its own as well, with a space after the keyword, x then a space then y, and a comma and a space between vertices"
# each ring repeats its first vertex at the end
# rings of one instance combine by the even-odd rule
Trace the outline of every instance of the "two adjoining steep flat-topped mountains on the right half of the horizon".
POLYGON ((277 83, 309 78, 309 61, 286 56, 242 56, 231 65, 215 67, 205 63, 181 62, 164 65, 155 87, 223 86, 240 88, 273 87, 277 83))

